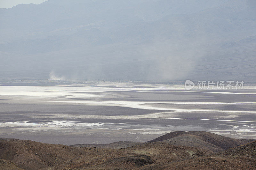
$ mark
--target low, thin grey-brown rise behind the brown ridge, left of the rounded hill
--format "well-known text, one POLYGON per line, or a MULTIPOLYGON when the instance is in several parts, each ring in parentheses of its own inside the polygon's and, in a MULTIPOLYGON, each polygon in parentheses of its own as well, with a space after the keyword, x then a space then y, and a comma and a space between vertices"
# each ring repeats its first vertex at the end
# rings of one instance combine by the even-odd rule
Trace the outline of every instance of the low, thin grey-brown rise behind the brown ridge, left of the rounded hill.
POLYGON ((120 148, 127 148, 127 147, 131 147, 131 146, 135 146, 135 145, 141 145, 141 144, 144 144, 144 143, 132 142, 132 141, 119 141, 119 142, 113 142, 110 144, 73 144, 70 146, 120 149, 120 148))

